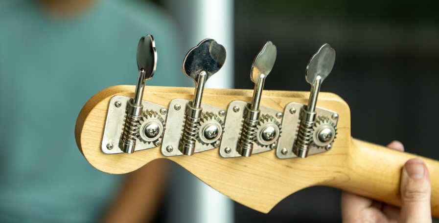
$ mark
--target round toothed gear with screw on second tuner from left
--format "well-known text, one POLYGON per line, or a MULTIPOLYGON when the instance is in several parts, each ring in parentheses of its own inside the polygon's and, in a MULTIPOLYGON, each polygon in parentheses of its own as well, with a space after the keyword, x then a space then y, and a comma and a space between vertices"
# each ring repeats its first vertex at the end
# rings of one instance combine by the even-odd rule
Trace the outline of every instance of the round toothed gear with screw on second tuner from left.
POLYGON ((221 119, 212 112, 203 113, 199 125, 198 142, 208 145, 214 144, 221 140, 224 132, 224 123, 221 119))

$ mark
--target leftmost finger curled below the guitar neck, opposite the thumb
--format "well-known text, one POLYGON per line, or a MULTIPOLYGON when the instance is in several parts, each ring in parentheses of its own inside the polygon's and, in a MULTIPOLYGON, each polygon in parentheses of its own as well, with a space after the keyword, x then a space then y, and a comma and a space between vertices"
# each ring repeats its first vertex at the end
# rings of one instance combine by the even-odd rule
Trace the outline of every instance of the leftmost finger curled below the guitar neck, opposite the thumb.
POLYGON ((342 219, 343 222, 349 222, 358 218, 359 213, 370 207, 372 200, 352 194, 349 192, 342 193, 342 219))

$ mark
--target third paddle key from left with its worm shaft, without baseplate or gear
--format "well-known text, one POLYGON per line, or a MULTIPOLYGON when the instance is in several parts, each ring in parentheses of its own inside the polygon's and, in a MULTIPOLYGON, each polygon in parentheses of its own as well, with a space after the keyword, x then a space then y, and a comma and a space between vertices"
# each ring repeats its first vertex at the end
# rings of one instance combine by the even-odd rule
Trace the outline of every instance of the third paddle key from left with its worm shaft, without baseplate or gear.
POLYGON ((249 157, 253 152, 253 142, 256 139, 257 123, 259 121, 262 90, 264 89, 265 79, 276 61, 277 49, 271 42, 267 41, 261 51, 256 55, 250 72, 250 79, 254 82, 253 98, 249 106, 244 111, 244 123, 241 136, 238 141, 237 149, 239 154, 249 157))

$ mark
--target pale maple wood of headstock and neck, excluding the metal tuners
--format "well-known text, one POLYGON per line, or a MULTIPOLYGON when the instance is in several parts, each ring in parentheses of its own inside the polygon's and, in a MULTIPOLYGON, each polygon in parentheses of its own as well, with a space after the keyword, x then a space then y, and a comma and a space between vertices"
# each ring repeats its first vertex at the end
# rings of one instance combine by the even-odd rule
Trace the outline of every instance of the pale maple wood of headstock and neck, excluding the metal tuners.
MULTIPOLYGON (((159 147, 134 154, 101 152, 103 128, 111 97, 132 97, 134 86, 120 85, 94 95, 82 108, 75 126, 79 150, 95 168, 112 174, 134 171, 155 159, 177 162, 209 186, 255 210, 267 213, 288 195, 313 185, 345 189, 399 205, 399 178, 405 161, 415 155, 352 140, 347 103, 332 93, 320 93, 317 106, 337 112, 338 135, 331 150, 306 159, 277 159, 275 151, 249 158, 221 158, 218 149, 193 156, 164 157, 159 147)), ((193 88, 145 88, 143 99, 163 106, 175 98, 191 99, 193 88)), ((203 103, 227 109, 230 101, 250 101, 252 90, 205 89, 203 103)), ((261 104, 283 111, 289 102, 306 103, 308 92, 264 91, 261 104)), ((433 186, 432 210, 439 217, 439 162, 427 162, 433 186)))

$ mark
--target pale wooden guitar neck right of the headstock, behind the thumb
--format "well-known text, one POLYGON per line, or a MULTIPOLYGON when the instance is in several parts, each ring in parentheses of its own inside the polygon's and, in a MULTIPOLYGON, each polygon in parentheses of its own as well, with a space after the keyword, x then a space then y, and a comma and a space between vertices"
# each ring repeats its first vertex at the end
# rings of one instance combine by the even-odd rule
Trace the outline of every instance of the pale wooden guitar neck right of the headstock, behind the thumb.
MULTIPOLYGON (((352 139, 346 166, 339 176, 321 185, 363 195, 395 206, 401 205, 400 178, 404 163, 422 159, 430 172, 432 214, 439 217, 439 162, 414 154, 391 150, 370 142, 352 139)), ((335 164, 335 163, 334 163, 335 164)))

